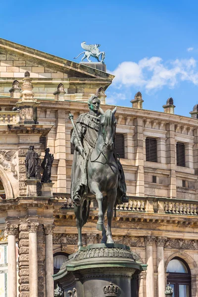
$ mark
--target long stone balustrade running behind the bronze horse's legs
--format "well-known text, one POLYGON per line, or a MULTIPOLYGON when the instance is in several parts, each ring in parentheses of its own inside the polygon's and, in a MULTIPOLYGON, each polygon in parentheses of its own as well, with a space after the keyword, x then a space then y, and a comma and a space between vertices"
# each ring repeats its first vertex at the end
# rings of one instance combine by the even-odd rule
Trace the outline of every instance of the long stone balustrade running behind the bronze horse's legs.
MULTIPOLYGON (((55 214, 55 218, 74 219, 74 205, 69 195, 57 195, 55 199, 65 199, 64 206, 55 214)), ((170 222, 186 227, 198 225, 198 201, 157 198, 157 197, 130 197, 128 203, 117 204, 114 221, 135 222, 170 222)), ((92 201, 90 217, 97 219, 98 207, 92 201)))

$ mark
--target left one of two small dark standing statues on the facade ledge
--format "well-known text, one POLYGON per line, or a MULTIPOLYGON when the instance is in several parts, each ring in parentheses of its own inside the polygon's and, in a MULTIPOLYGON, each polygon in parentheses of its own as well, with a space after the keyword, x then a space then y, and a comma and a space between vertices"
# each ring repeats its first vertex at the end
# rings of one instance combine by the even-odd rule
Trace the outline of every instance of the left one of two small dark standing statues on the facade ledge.
POLYGON ((34 146, 30 146, 25 157, 27 179, 36 180, 38 178, 38 159, 39 156, 34 150, 34 146))

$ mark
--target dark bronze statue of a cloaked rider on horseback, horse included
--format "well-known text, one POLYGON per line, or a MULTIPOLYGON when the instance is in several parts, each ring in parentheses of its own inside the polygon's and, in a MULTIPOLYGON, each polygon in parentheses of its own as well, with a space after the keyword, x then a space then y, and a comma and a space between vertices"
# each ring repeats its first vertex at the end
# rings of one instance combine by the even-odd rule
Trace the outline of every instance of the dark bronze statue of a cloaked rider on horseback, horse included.
POLYGON ((78 247, 82 247, 82 227, 89 217, 91 200, 98 201, 97 229, 102 231, 101 243, 113 243, 111 221, 116 203, 129 201, 122 165, 115 149, 116 107, 105 112, 100 100, 88 101, 90 111, 81 114, 76 125, 73 115, 71 143, 75 147, 71 172, 71 198, 78 228, 78 247), (107 211, 107 229, 104 215, 107 211))

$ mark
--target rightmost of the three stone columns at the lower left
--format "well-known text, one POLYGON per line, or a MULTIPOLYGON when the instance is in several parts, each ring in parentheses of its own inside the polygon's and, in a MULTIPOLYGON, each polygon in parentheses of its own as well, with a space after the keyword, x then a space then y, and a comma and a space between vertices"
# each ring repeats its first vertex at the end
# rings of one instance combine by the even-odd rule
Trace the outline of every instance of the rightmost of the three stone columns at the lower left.
POLYGON ((53 234, 54 225, 45 225, 46 235, 46 297, 53 297, 53 234))

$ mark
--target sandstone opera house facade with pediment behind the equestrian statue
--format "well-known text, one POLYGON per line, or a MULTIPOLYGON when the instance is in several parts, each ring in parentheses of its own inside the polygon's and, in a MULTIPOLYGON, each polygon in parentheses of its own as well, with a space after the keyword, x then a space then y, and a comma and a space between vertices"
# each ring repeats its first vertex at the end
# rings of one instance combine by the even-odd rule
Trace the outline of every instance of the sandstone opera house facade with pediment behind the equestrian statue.
MULTIPOLYGON (((68 114, 75 120, 94 94, 103 110, 112 109, 105 104, 105 90, 113 78, 85 64, 0 39, 3 297, 52 297, 51 275, 77 249, 68 114), (54 155, 52 188, 38 182, 35 193, 28 192, 24 164, 32 144, 41 159, 45 147, 54 155)), ((174 114, 172 99, 163 112, 143 109, 140 92, 131 102, 132 107, 118 106, 116 112, 116 146, 130 199, 116 207, 114 240, 130 246, 148 264, 147 272, 137 277, 137 296, 163 297, 170 281, 175 297, 197 297, 198 106, 191 117, 184 117, 174 114)), ((85 245, 101 239, 97 213, 93 202, 83 228, 85 245)))

